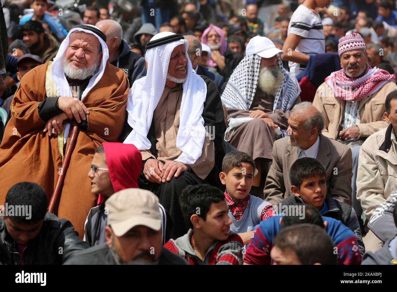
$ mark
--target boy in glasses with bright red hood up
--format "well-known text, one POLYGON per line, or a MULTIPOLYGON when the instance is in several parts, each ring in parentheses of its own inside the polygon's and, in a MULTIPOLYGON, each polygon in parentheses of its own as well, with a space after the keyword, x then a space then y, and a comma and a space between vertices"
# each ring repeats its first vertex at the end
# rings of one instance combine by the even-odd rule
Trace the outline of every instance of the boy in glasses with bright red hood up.
MULTIPOLYGON (((105 201, 114 193, 139 188, 138 176, 141 172, 142 155, 133 144, 102 143, 95 150, 91 169, 91 192, 98 194, 98 205, 90 210, 84 224, 84 238, 90 246, 106 242, 105 227, 108 213, 105 201)), ((171 218, 164 207, 159 204, 162 215, 163 244, 170 238, 171 218)))

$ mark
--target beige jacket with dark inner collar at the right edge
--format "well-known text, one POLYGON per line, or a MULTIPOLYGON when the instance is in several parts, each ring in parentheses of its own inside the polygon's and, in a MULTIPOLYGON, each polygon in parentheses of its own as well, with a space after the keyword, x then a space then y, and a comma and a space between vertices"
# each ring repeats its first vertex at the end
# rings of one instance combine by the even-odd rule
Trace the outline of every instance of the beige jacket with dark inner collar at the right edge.
POLYGON ((356 184, 357 199, 367 219, 397 190, 397 141, 391 124, 362 144, 356 184))

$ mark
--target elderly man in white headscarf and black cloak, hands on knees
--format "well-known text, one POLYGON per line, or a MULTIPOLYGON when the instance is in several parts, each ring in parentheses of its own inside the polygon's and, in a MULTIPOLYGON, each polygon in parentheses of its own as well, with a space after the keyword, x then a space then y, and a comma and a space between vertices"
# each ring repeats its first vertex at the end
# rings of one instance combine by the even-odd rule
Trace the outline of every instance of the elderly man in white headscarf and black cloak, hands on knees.
POLYGON ((193 71, 187 49, 182 35, 155 35, 146 44, 148 73, 134 82, 127 102, 124 143, 142 153, 139 188, 154 192, 169 211, 171 238, 187 232, 179 206, 186 186, 222 188, 222 102, 214 81, 193 71))

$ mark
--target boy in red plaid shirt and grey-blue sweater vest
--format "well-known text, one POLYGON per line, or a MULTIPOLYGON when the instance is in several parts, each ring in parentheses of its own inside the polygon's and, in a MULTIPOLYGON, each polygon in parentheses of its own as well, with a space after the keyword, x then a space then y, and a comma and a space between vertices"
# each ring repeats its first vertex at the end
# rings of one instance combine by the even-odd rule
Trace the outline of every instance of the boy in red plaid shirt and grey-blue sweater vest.
POLYGON ((272 204, 250 195, 254 178, 254 160, 245 152, 233 151, 225 155, 219 178, 226 186, 225 198, 229 205, 230 230, 239 234, 248 244, 252 228, 275 214, 272 204))

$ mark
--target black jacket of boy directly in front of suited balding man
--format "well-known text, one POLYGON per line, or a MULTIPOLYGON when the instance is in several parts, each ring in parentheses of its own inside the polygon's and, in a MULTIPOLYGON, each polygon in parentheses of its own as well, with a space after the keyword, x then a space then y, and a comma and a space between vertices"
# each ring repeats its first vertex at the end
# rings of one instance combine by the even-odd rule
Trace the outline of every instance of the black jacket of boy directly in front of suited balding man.
MULTIPOLYGON (((360 246, 361 255, 364 255, 365 246, 364 246, 364 242, 362 241, 360 225, 358 224, 357 215, 353 207, 346 203, 342 203, 339 202, 338 200, 333 199, 330 195, 326 195, 325 202, 328 205, 328 211, 322 213, 321 216, 331 217, 333 219, 339 220, 347 228, 350 228, 350 230, 353 231, 354 235, 357 238, 357 243, 360 246)), ((303 204, 304 202, 300 197, 293 195, 281 201, 277 206, 279 210, 283 210, 280 209, 280 207, 283 208, 282 207, 283 205, 289 206, 289 205, 303 205, 303 204)))

